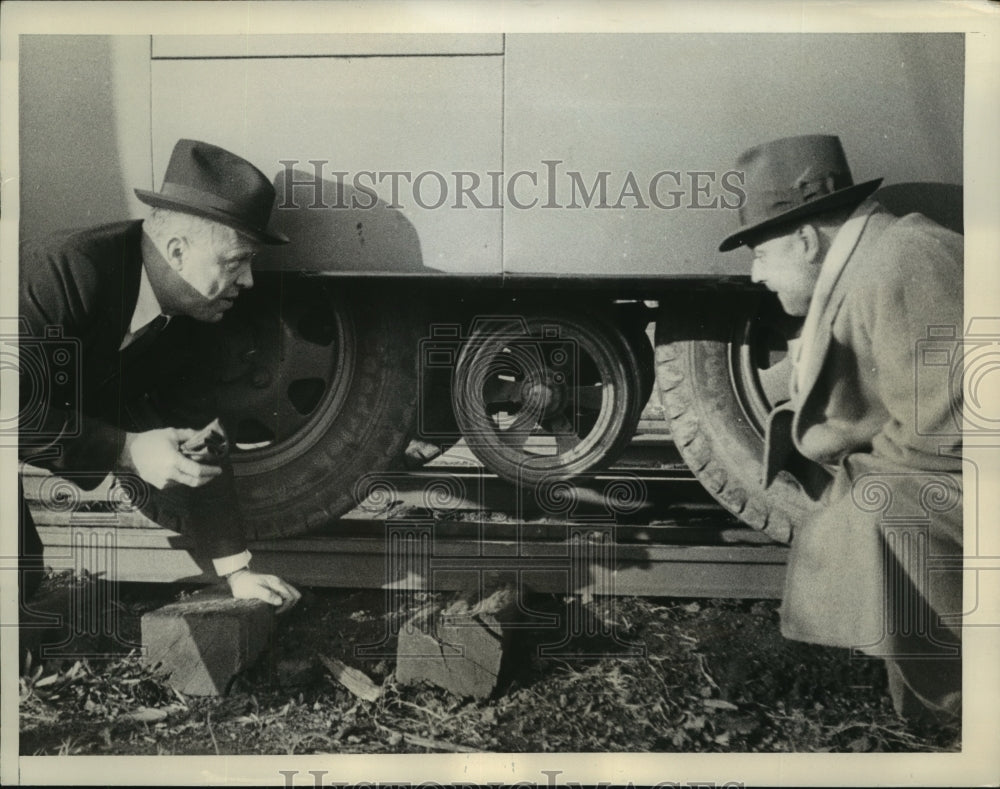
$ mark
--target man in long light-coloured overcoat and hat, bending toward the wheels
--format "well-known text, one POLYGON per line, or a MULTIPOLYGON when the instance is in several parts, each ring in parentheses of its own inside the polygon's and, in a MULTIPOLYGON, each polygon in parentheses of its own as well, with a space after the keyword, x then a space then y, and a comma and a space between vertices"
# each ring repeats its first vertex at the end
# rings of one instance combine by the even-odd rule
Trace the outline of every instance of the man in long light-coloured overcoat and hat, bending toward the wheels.
MULTIPOLYGON (((921 376, 921 342, 962 328, 961 235, 897 217, 855 184, 837 137, 776 140, 737 162, 747 199, 720 246, 804 317, 765 483, 815 502, 793 525, 782 633, 884 659, 902 715, 961 705, 961 380, 921 376)), ((960 374, 959 374, 960 378, 960 374)))

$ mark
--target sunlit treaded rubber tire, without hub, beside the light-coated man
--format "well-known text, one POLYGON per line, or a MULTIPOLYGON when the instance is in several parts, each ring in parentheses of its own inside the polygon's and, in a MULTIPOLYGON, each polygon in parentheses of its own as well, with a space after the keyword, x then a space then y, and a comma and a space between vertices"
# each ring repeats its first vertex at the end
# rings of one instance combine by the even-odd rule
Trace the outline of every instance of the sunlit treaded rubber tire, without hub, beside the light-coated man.
POLYGON ((661 302, 656 381, 664 416, 681 457, 713 498, 744 523, 787 542, 809 499, 782 477, 763 487, 764 437, 734 385, 734 338, 753 319, 758 301, 711 299, 711 305, 698 299, 661 302))

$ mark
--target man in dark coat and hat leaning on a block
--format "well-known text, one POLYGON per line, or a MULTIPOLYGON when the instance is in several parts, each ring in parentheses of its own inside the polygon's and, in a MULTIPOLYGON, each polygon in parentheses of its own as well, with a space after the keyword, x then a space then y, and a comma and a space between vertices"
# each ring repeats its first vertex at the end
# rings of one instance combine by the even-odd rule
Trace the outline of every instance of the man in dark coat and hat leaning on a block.
MULTIPOLYGON (((145 222, 22 244, 20 318, 31 341, 21 343, 20 459, 84 489, 109 473, 137 477, 153 489, 151 509, 170 504, 235 597, 287 608, 298 591, 250 569, 228 457, 185 453, 202 425, 163 426, 149 406, 158 376, 170 374, 167 352, 184 342, 190 321, 221 320, 253 286, 259 246, 288 241, 267 228, 274 189, 246 160, 180 140, 161 191, 136 194, 153 207, 145 222), (32 351, 44 356, 60 344, 75 348, 76 363, 32 380, 32 351)), ((37 361, 35 369, 53 360, 37 361)), ((41 580, 42 545, 20 483, 19 496, 27 600, 41 580)))

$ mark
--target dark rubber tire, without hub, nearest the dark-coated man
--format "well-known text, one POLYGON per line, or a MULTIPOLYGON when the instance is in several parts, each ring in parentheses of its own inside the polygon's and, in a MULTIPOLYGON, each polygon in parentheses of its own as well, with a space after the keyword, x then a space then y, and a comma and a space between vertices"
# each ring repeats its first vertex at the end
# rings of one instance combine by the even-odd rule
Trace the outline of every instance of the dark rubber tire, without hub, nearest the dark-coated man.
POLYGON ((329 525, 356 506, 363 477, 398 464, 412 433, 419 321, 404 300, 377 294, 340 299, 338 309, 353 324, 353 379, 323 435, 278 468, 234 458, 248 539, 329 525))

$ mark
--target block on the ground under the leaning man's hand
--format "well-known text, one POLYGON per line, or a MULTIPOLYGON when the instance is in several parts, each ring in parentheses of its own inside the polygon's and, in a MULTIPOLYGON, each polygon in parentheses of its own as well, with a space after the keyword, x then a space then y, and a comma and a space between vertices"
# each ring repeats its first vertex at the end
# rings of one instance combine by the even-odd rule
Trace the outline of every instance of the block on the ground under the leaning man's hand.
POLYGON ((270 646, 273 631, 272 606, 211 587, 143 615, 144 659, 169 672, 181 693, 219 696, 270 646))

